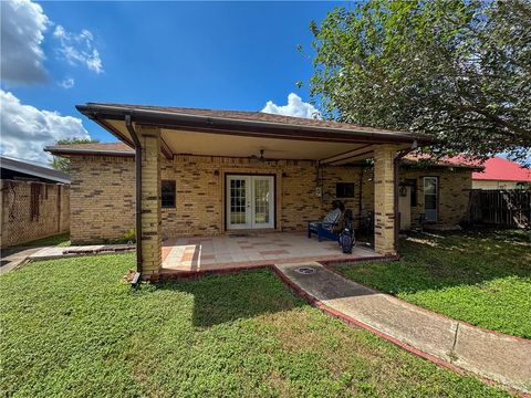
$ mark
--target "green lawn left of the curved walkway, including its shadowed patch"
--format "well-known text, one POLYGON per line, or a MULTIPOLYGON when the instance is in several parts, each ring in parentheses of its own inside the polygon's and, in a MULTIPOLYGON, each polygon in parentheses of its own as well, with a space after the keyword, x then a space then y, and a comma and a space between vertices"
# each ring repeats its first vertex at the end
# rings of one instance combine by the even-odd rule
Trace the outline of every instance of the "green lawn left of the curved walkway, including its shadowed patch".
POLYGON ((502 397, 324 315, 270 271, 122 283, 133 254, 0 276, 0 394, 502 397))

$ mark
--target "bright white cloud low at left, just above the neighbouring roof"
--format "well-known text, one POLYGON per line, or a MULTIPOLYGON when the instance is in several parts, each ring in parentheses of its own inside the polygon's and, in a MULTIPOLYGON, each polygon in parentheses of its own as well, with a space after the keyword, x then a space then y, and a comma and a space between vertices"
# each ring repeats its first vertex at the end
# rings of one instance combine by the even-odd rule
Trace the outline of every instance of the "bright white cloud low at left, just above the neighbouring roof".
POLYGON ((53 145, 59 139, 88 138, 77 117, 23 105, 13 94, 3 90, 0 90, 0 103, 2 155, 44 163, 49 159, 49 154, 43 150, 46 145, 53 145))

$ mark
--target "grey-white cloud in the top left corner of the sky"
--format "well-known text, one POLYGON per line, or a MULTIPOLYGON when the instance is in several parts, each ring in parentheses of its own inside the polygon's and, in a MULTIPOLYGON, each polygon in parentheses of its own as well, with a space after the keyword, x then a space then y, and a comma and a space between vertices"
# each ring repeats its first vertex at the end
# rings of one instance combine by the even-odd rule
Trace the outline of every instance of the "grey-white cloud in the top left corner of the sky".
POLYGON ((0 1, 1 76, 15 84, 46 80, 41 43, 50 20, 42 7, 29 0, 0 1))

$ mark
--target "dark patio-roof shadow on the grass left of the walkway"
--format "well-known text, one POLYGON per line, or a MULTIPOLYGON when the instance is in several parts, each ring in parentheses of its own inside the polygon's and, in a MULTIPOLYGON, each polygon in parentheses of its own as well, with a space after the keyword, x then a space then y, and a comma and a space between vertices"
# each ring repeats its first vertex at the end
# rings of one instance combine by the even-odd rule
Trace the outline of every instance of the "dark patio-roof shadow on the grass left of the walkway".
POLYGON ((192 281, 167 281, 157 284, 157 290, 191 294, 192 324, 198 328, 305 305, 269 270, 204 276, 192 281))

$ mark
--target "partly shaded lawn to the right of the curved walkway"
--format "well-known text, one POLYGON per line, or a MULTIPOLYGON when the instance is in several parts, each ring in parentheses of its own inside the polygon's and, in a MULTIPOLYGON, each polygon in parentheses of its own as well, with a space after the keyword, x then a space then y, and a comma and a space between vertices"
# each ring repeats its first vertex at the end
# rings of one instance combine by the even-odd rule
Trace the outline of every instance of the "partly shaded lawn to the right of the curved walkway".
POLYGON ((414 234, 399 262, 339 266, 344 276, 492 331, 531 338, 531 234, 414 234))

